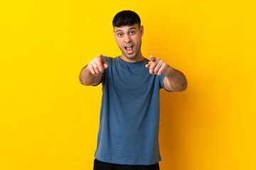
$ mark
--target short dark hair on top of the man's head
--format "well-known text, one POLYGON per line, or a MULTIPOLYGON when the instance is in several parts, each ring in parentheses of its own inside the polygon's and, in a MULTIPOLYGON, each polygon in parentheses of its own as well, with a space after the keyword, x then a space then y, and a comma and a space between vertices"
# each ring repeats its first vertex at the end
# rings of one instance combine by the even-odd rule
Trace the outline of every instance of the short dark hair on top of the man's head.
POLYGON ((137 13, 134 11, 120 11, 114 16, 112 21, 113 28, 120 26, 131 26, 137 23, 140 27, 141 21, 137 13))

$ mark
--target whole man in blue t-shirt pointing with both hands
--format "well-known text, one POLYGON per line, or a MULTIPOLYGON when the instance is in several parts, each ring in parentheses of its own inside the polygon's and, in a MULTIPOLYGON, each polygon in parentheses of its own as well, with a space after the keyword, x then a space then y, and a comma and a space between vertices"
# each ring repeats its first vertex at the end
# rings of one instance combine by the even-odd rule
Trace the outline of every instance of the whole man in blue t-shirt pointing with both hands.
POLYGON ((137 13, 112 21, 119 57, 98 55, 80 72, 80 83, 102 83, 94 169, 159 169, 159 90, 184 91, 186 77, 159 57, 142 56, 144 28, 137 13))

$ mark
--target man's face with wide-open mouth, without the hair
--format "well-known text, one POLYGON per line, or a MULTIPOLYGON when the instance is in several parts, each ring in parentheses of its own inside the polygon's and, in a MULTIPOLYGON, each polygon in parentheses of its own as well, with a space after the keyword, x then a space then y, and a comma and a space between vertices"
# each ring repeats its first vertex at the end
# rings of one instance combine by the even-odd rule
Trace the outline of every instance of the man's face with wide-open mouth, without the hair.
POLYGON ((114 27, 114 38, 122 55, 133 60, 140 54, 144 28, 135 23, 131 26, 114 27))

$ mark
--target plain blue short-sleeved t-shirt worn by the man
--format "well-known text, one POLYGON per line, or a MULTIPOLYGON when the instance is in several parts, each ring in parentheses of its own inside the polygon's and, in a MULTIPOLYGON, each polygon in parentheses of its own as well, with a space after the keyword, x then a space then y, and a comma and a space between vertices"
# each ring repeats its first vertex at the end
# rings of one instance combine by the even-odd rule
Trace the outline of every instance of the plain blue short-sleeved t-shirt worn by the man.
POLYGON ((95 158, 112 164, 149 165, 159 153, 159 89, 164 74, 149 74, 145 64, 105 57, 102 106, 95 158))

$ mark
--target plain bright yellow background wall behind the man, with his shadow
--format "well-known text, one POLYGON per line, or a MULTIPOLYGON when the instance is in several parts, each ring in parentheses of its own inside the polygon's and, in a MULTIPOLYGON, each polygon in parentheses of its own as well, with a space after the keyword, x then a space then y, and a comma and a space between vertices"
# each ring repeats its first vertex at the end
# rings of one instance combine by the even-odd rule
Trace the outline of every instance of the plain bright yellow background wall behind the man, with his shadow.
POLYGON ((117 57, 112 18, 142 19, 142 54, 181 70, 161 90, 160 169, 256 169, 255 1, 1 1, 0 169, 92 169, 101 85, 79 74, 117 57))

